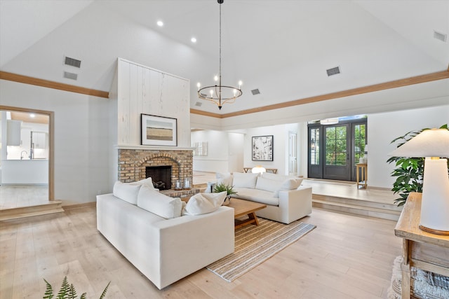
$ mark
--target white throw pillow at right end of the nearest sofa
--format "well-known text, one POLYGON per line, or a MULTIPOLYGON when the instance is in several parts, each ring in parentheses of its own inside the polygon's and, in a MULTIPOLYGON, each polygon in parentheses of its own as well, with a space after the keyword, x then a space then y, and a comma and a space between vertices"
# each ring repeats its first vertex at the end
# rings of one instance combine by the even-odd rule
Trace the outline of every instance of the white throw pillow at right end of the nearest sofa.
POLYGON ((190 197, 182 214, 201 215, 216 211, 226 198, 226 191, 220 193, 198 193, 190 197))

